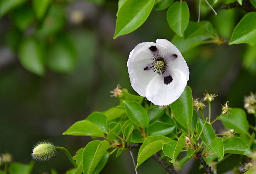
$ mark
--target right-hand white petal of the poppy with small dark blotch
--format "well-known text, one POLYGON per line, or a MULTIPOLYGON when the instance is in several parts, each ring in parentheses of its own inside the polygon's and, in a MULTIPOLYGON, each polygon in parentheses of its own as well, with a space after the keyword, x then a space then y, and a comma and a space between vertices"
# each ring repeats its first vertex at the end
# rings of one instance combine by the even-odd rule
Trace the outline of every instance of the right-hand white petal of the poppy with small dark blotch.
POLYGON ((166 39, 157 39, 156 43, 166 47, 166 49, 161 49, 161 54, 163 54, 162 56, 170 55, 170 54, 178 55, 177 58, 172 59, 170 62, 168 62, 168 69, 169 70, 172 70, 174 68, 179 69, 186 75, 187 80, 189 80, 190 72, 189 72, 187 63, 183 58, 182 54, 180 53, 180 51, 178 50, 178 48, 175 47, 175 45, 173 45, 170 41, 166 39))

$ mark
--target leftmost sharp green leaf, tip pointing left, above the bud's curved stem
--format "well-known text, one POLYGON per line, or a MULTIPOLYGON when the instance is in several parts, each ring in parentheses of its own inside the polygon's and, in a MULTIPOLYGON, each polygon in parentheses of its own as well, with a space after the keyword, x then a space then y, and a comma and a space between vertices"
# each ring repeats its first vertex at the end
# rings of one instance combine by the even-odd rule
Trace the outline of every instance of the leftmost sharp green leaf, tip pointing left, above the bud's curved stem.
POLYGON ((63 135, 99 136, 104 137, 104 133, 96 125, 88 120, 74 123, 63 135))

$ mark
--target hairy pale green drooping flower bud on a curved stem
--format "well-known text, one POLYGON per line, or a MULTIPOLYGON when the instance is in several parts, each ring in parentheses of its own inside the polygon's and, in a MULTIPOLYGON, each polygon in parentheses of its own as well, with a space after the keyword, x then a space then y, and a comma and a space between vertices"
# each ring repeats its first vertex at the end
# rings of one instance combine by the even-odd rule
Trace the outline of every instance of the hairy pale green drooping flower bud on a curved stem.
POLYGON ((38 162, 48 161, 54 157, 56 153, 55 146, 49 141, 37 143, 32 150, 31 156, 33 160, 38 162))

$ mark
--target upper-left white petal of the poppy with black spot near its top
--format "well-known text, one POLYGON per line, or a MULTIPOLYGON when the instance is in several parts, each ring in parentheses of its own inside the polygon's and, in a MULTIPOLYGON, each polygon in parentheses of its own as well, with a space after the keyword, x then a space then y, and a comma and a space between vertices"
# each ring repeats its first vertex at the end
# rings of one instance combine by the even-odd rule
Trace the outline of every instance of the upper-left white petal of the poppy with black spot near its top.
POLYGON ((152 51, 149 49, 151 46, 156 46, 158 49, 166 49, 166 47, 163 47, 162 45, 156 44, 154 42, 142 42, 130 52, 129 55, 129 60, 131 62, 137 62, 137 61, 142 61, 145 59, 151 59, 153 56, 152 51))

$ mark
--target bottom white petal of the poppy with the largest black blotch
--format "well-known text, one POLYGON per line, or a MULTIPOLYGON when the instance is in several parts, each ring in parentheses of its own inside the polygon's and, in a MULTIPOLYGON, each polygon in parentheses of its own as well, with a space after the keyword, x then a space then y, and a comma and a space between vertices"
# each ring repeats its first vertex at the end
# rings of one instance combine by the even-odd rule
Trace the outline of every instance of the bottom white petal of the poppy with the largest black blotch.
POLYGON ((159 106, 166 106, 177 100, 187 85, 186 75, 180 70, 171 70, 172 82, 164 84, 164 75, 156 75, 147 86, 146 97, 159 106))

